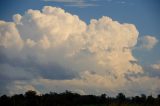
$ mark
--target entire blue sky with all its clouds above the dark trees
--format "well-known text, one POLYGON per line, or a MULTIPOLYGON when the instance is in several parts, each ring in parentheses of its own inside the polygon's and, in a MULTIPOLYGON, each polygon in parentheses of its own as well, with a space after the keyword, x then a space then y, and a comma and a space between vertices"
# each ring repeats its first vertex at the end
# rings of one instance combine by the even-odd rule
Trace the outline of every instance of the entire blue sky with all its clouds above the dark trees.
POLYGON ((0 95, 160 94, 159 0, 1 0, 0 95))

